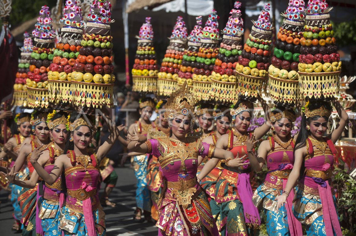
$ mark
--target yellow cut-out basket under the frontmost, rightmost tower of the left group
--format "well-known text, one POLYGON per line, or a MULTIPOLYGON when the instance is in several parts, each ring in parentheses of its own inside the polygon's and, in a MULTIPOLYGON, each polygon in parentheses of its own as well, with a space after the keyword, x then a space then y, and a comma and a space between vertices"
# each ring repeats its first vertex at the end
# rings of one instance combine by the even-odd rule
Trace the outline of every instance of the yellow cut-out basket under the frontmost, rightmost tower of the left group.
POLYGON ((87 83, 71 81, 73 88, 73 105, 89 108, 114 107, 112 93, 114 84, 87 83))

